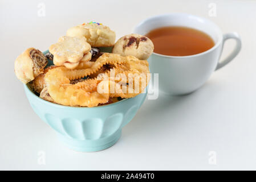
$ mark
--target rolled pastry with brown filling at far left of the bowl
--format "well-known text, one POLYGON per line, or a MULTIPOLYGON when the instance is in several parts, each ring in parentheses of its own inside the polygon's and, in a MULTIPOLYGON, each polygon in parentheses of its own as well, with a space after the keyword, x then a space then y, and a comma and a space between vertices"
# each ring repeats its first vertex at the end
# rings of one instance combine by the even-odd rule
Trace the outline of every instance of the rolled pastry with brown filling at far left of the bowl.
POLYGON ((19 80, 27 84, 43 73, 43 68, 46 67, 47 63, 47 57, 41 51, 28 48, 15 60, 14 72, 19 80))

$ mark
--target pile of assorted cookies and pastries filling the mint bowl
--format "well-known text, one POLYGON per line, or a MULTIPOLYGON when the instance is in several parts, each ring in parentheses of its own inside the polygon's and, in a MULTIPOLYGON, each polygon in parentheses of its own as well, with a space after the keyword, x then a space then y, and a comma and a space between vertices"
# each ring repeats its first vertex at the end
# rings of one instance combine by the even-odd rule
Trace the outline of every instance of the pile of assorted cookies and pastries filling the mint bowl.
POLYGON ((116 43, 115 38, 115 32, 101 23, 80 24, 68 29, 46 55, 35 48, 19 55, 15 75, 40 98, 61 105, 94 107, 135 97, 148 85, 147 59, 153 43, 138 34, 116 43), (101 52, 106 47, 112 53, 101 52), (140 77, 126 78, 131 75, 140 77))

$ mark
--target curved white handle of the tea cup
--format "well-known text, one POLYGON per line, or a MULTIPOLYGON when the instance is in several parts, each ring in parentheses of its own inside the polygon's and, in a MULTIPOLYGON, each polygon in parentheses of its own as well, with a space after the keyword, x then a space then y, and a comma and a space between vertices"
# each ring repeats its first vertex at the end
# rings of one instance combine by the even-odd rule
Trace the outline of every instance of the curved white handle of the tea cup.
MULTIPOLYGON (((241 50, 241 47, 242 47, 242 43, 241 43, 241 38, 240 36, 237 34, 237 32, 230 32, 230 33, 227 33, 227 34, 224 34, 223 35, 223 41, 222 41, 222 49, 221 49, 221 54, 222 54, 222 51, 223 51, 223 47, 224 47, 224 44, 226 42, 227 39, 235 39, 235 41, 237 42, 236 45, 235 45, 235 48, 234 50, 230 53, 229 56, 226 57, 226 59, 224 59, 223 61, 219 61, 217 67, 216 67, 216 70, 217 69, 220 69, 222 67, 224 67, 227 63, 229 63, 231 60, 234 59, 235 56, 237 56, 237 54, 239 53, 239 51, 241 50)), ((221 55, 220 54, 220 55, 221 55)), ((220 56, 221 57, 221 56, 220 56)))

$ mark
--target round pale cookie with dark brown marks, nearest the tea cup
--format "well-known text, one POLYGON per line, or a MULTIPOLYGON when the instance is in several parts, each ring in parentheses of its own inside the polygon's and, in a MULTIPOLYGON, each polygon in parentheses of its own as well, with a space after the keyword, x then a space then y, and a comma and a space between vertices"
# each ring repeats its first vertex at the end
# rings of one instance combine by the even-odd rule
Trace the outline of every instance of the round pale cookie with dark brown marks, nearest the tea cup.
POLYGON ((154 50, 154 44, 146 36, 129 34, 121 37, 115 43, 112 52, 121 56, 135 56, 140 60, 147 60, 154 50))

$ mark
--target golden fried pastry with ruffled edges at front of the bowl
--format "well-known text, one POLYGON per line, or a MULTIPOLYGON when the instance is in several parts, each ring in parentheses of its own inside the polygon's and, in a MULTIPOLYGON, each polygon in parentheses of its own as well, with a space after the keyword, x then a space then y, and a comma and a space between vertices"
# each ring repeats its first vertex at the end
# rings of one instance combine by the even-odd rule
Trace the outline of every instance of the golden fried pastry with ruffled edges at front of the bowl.
POLYGON ((148 62, 145 60, 104 53, 95 62, 87 62, 83 69, 71 70, 66 67, 51 69, 44 79, 54 102, 68 106, 93 107, 107 103, 109 97, 129 98, 142 93, 149 81, 147 73, 149 73, 148 62), (102 73, 101 68, 104 65, 112 65, 112 68, 102 73), (74 85, 70 83, 71 80, 97 75, 99 72, 101 72, 100 76, 74 85), (105 92, 99 92, 102 86, 107 88, 105 92), (136 86, 139 89, 136 90, 136 86), (115 88, 113 93, 112 87, 115 88))

